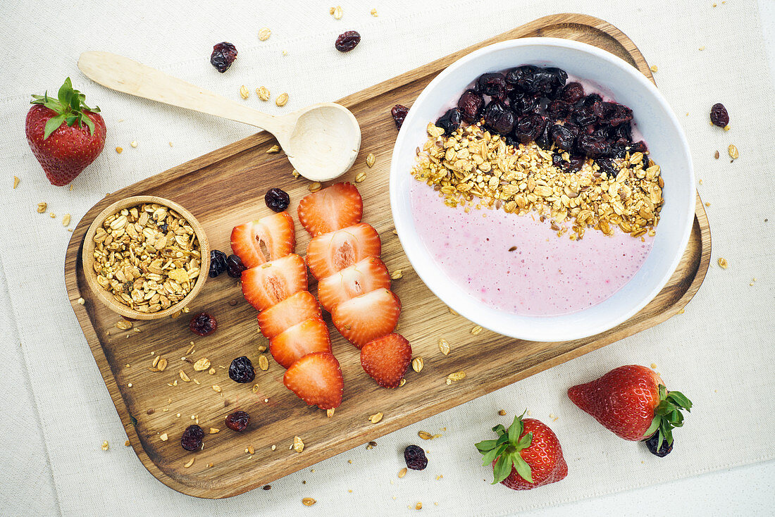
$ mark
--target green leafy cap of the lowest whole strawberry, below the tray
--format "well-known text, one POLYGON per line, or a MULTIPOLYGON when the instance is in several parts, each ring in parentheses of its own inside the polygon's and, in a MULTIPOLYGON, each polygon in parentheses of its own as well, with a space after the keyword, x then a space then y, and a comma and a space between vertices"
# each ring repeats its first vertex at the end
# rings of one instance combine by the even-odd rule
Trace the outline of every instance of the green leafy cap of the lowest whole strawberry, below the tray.
MULTIPOLYGON (((526 412, 527 410, 525 410, 526 412)), ((486 467, 496 458, 493 466, 492 484, 500 483, 505 480, 509 474, 512 474, 512 467, 517 470, 522 479, 532 483, 532 472, 530 465, 522 459, 520 451, 527 449, 532 443, 532 433, 527 433, 520 438, 524 426, 522 425, 522 415, 514 417, 514 422, 506 429, 502 424, 494 426, 492 430, 498 434, 498 439, 485 439, 476 444, 477 450, 483 455, 482 466, 486 467)))

